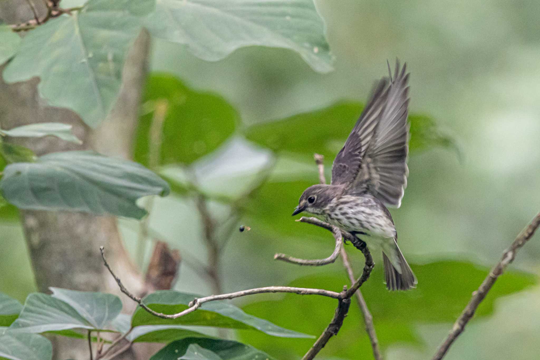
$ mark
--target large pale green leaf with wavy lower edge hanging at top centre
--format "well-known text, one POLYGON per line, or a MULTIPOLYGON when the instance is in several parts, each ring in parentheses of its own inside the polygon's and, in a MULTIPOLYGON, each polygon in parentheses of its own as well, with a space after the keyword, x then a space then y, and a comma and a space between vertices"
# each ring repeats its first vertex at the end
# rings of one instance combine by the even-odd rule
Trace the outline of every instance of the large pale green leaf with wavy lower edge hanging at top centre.
POLYGON ((262 45, 294 50, 315 71, 333 70, 325 24, 313 0, 162 0, 146 26, 204 60, 262 45))

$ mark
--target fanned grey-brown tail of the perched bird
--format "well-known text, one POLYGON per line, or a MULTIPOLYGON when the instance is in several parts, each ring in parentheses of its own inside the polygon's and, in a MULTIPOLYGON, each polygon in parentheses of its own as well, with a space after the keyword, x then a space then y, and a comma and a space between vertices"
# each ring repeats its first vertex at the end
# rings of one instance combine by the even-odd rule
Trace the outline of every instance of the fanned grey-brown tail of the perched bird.
POLYGON ((403 257, 400 248, 397 246, 397 242, 394 241, 394 244, 395 247, 386 252, 389 256, 392 256, 394 261, 390 261, 384 251, 382 253, 386 288, 388 290, 409 290, 416 288, 416 284, 418 283, 416 276, 414 276, 413 270, 410 269, 407 260, 403 257))

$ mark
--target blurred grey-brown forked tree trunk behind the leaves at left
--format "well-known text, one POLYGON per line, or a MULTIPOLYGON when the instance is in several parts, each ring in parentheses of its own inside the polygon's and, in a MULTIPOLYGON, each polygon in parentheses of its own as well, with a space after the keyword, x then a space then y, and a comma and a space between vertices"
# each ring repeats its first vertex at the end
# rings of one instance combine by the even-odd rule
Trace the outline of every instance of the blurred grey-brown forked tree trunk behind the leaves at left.
MULTIPOLYGON (((19 23, 33 16, 28 3, 24 1, 2 1, 0 17, 8 23, 19 23)), ((2 128, 51 121, 71 124, 73 132, 83 140, 83 145, 54 137, 17 138, 14 142, 31 148, 37 155, 95 150, 106 155, 130 158, 149 47, 150 36, 143 30, 127 57, 119 100, 110 116, 96 130, 86 126, 75 112, 46 105, 38 94, 38 78, 15 84, 6 84, 0 79, 2 128)), ((4 66, 0 66, 0 71, 3 69, 4 66)), ((100 246, 105 246, 108 260, 125 286, 136 294, 144 290, 144 280, 124 248, 116 218, 76 212, 23 210, 21 221, 40 291, 47 293, 49 287, 61 287, 121 295, 116 282, 103 266, 100 246)), ((124 312, 131 314, 136 304, 124 295, 120 297, 124 302, 124 312)), ((84 341, 55 337, 53 347, 55 359, 89 358, 89 349, 84 341)), ((126 352, 118 358, 146 360, 150 357, 148 350, 157 351, 155 347, 148 348, 147 344, 144 348, 136 347, 136 351, 126 352)))

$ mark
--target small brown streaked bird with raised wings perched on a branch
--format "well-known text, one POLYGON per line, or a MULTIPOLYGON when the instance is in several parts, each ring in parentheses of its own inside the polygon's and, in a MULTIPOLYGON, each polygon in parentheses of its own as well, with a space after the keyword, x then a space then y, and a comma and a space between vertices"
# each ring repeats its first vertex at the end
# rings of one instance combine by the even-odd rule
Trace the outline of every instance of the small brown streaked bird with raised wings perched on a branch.
POLYGON ((367 105, 332 165, 329 185, 308 187, 293 216, 307 212, 382 249, 388 290, 416 287, 416 276, 397 246, 388 207, 400 207, 407 187, 409 73, 396 60, 394 78, 375 82, 367 105))

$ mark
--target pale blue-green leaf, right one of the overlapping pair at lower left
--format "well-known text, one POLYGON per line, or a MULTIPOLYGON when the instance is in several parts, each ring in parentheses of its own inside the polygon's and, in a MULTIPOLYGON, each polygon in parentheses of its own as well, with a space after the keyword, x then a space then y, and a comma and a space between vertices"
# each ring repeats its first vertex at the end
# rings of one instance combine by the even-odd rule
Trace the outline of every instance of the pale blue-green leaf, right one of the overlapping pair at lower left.
POLYGON ((104 329, 122 311, 122 301, 113 294, 50 288, 52 297, 71 305, 96 329, 104 329))

